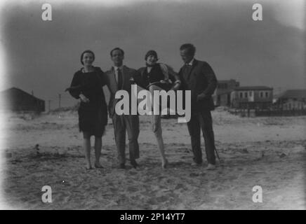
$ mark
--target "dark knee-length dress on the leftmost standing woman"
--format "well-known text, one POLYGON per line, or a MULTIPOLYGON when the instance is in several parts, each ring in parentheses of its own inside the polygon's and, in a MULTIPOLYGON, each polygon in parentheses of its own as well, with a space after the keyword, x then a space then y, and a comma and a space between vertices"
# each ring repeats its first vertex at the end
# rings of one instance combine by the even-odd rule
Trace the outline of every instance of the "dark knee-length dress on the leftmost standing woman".
POLYGON ((84 94, 89 102, 81 102, 79 106, 79 130, 87 132, 95 137, 102 137, 107 125, 107 104, 102 86, 105 84, 103 71, 100 67, 94 67, 94 71, 76 71, 72 78, 69 93, 75 99, 79 94, 84 94))

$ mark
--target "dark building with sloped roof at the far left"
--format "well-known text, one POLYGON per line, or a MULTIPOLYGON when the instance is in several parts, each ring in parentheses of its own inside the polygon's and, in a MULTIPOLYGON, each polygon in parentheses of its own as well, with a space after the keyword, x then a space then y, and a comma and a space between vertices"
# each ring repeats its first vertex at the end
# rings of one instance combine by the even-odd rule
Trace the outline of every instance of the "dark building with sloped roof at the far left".
POLYGON ((16 87, 0 92, 0 97, 4 104, 2 110, 8 111, 45 111, 45 102, 43 99, 34 97, 16 87))

